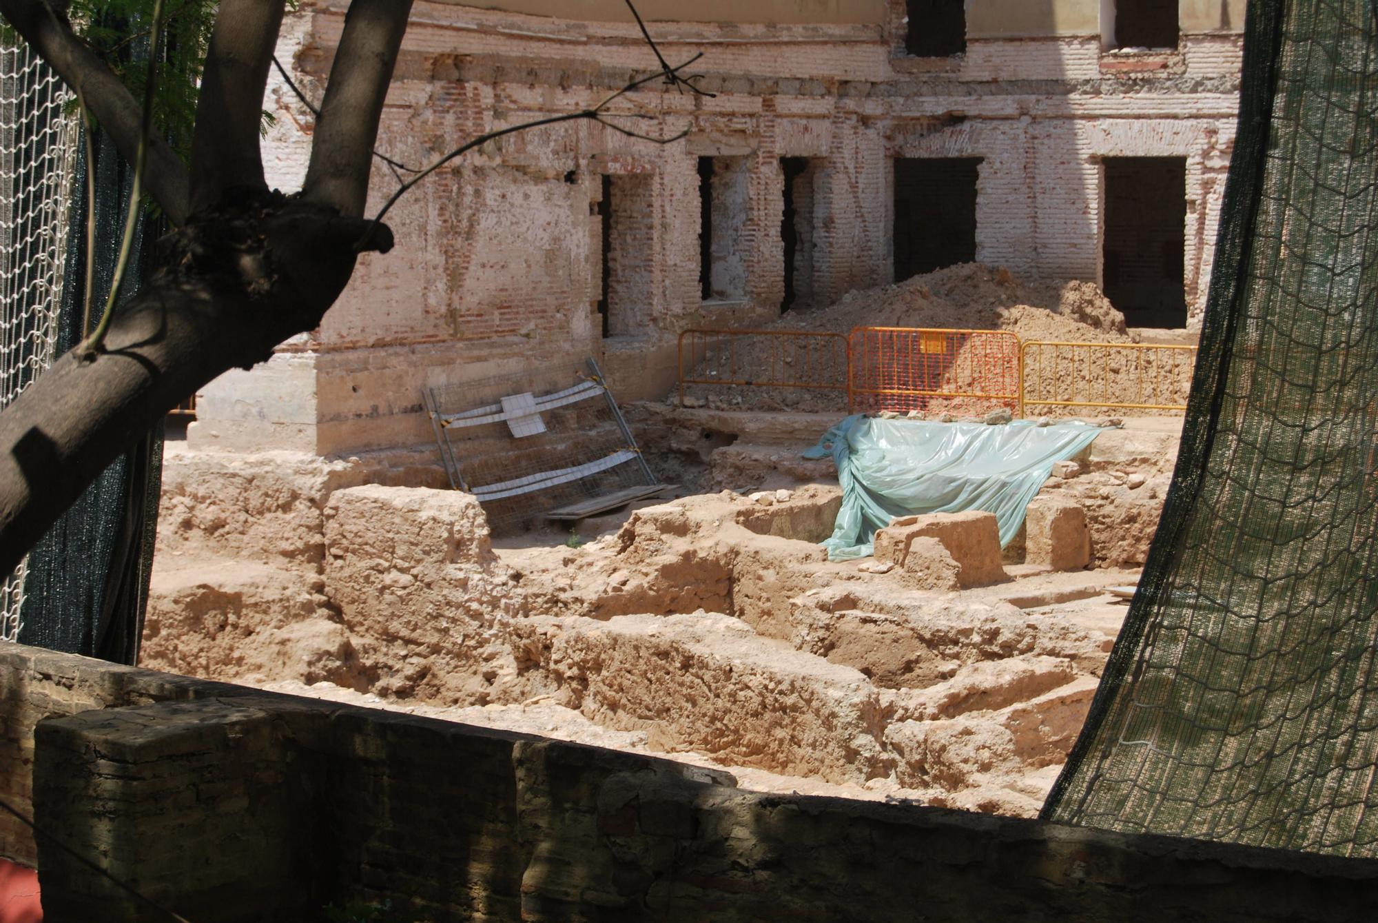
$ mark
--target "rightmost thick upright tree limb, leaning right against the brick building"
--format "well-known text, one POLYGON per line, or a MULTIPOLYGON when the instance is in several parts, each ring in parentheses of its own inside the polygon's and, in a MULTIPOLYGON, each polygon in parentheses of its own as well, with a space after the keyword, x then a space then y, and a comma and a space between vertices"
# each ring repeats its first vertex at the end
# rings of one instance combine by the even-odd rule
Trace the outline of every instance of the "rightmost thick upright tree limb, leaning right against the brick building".
POLYGON ((364 214, 378 121, 412 0, 353 0, 335 51, 302 189, 346 218, 364 214))

